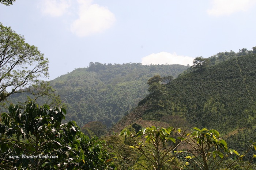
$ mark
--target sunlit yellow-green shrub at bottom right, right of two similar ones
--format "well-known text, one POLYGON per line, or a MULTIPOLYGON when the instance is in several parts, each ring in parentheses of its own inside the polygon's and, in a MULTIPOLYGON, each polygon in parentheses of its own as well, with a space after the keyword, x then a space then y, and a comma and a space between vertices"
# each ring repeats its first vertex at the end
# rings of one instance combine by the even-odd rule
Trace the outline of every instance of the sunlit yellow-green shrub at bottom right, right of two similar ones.
MULTIPOLYGON (((187 134, 188 140, 185 142, 190 146, 189 154, 185 157, 188 160, 187 167, 189 169, 215 170, 225 161, 231 154, 235 153, 238 159, 244 155, 240 155, 236 150, 229 149, 225 140, 220 139, 217 130, 193 128, 191 134, 187 134)), ((238 159, 234 159, 227 167, 230 167, 238 159)))

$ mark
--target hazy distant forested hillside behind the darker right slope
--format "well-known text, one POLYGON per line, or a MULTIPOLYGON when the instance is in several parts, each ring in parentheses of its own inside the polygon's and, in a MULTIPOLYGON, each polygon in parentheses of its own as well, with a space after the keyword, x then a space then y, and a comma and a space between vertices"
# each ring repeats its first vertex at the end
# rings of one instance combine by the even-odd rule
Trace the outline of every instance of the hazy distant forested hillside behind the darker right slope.
POLYGON ((90 63, 50 82, 67 104, 66 120, 79 126, 101 121, 111 126, 123 118, 147 94, 147 80, 154 75, 172 75, 186 70, 182 65, 90 63))

